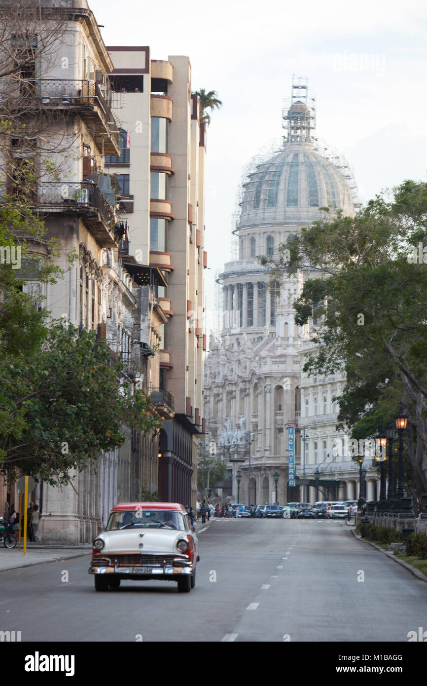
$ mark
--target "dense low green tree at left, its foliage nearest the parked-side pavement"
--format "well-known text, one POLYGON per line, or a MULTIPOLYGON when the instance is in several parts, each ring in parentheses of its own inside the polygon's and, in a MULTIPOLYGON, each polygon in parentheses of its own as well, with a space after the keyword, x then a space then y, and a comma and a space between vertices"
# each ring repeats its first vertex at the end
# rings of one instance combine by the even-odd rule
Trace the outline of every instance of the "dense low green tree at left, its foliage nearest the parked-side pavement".
POLYGON ((0 373, 0 473, 9 479, 20 470, 64 484, 68 470, 121 445, 123 421, 139 431, 161 426, 94 331, 56 322, 33 354, 1 355, 0 373))

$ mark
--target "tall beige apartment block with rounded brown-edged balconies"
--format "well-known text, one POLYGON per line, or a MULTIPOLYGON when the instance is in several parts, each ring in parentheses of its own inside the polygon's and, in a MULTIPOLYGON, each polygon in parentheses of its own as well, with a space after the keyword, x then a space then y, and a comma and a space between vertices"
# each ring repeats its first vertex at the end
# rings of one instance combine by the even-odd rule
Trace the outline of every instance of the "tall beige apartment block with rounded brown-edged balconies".
POLYGON ((106 157, 106 168, 125 206, 122 257, 134 270, 145 265, 164 279, 158 305, 167 320, 149 320, 146 331, 160 348, 160 364, 147 367, 145 383, 172 411, 160 431, 158 496, 195 504, 197 436, 204 431, 206 129, 191 93, 188 57, 151 60, 149 47, 138 46, 108 47, 108 53, 121 101, 114 110, 121 152, 106 157))

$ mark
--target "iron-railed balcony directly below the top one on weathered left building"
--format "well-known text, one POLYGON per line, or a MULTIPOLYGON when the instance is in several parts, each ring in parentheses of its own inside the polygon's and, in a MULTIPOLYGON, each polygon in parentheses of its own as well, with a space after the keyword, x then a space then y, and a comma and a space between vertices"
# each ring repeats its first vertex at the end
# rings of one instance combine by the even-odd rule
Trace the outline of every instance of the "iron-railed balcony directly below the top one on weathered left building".
POLYGON ((80 215, 97 243, 103 248, 116 247, 117 213, 93 181, 42 182, 36 208, 43 213, 80 215))

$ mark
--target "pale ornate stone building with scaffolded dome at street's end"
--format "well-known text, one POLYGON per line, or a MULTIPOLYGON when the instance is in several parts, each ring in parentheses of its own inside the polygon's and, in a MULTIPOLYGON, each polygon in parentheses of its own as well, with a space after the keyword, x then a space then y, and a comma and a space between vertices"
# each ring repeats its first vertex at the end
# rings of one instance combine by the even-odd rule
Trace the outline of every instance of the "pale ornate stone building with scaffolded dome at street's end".
MULTIPOLYGON (((333 467, 337 464, 336 459, 332 460, 332 441, 337 438, 334 424, 338 407, 332 398, 340 394, 345 377, 337 375, 329 381, 314 382, 302 379, 301 358, 313 348, 310 338, 317 323, 297 327, 294 322, 293 302, 302 289, 303 274, 285 279, 280 288, 272 290, 268 288, 269 273, 257 259, 260 255, 273 255, 289 235, 300 233, 303 226, 319 220, 323 207, 352 215, 354 201, 348 178, 351 175, 348 167, 338 166, 330 156, 319 152, 321 146, 313 134, 314 99, 308 97, 306 80, 293 81, 283 123, 285 135, 280 149, 252 165, 243 181, 239 220, 233 231, 239 241, 239 259, 225 263, 217 280, 223 295, 221 342, 211 337, 205 362, 204 401, 209 438, 217 442, 217 455, 226 460, 245 460, 241 464, 229 462, 230 480, 219 496, 240 496, 247 504, 276 500, 284 504, 309 496, 328 499, 328 494, 333 498, 345 497, 347 493, 353 495, 356 488, 354 484, 347 487, 347 480, 335 478, 333 470, 328 473, 328 456, 333 467), (313 383, 324 386, 319 392, 313 391, 313 383), (304 426, 310 425, 310 417, 314 417, 311 423, 316 427, 309 438, 302 432, 306 439, 304 458, 307 466, 322 464, 320 471, 328 473, 321 477, 324 493, 318 492, 319 476, 315 486, 309 478, 316 467, 311 470, 308 466, 306 475, 304 464, 303 484, 300 483, 298 434, 297 479, 295 486, 289 486, 287 427, 302 425, 301 405, 304 426), (327 416, 324 425, 319 409, 327 416)), ((352 470, 353 463, 348 480, 354 476, 352 470)), ((293 482, 291 478, 290 483, 293 482)))

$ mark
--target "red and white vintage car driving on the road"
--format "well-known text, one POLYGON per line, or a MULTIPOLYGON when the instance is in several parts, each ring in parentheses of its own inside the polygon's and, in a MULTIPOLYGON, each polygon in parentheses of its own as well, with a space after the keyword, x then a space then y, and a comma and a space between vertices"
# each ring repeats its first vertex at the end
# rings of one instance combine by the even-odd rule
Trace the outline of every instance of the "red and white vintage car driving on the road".
POLYGON ((117 589, 122 579, 178 582, 195 587, 197 536, 186 508, 178 503, 121 503, 112 508, 106 530, 93 541, 89 573, 95 589, 117 589))

